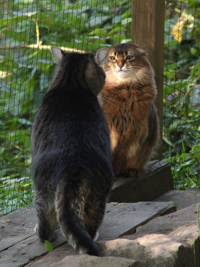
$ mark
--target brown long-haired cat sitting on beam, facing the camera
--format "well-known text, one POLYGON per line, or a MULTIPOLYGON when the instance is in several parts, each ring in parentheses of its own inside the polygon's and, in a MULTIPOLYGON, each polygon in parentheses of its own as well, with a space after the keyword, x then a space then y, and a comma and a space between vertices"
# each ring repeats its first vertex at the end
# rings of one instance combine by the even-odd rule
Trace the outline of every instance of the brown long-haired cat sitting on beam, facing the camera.
POLYGON ((110 47, 102 67, 106 83, 99 101, 110 128, 113 170, 116 176, 133 177, 158 144, 154 71, 147 51, 131 43, 110 47))

